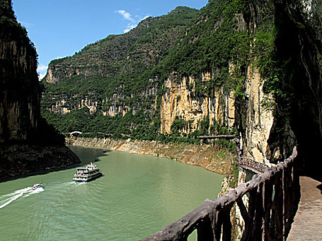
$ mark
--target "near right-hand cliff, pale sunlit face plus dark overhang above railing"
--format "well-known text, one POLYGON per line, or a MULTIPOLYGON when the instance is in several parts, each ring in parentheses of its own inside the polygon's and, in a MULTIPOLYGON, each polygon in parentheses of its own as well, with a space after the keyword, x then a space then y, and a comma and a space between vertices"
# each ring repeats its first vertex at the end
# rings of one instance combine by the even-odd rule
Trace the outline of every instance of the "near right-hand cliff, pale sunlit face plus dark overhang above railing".
POLYGON ((245 71, 245 98, 236 106, 245 155, 276 163, 299 144, 303 163, 310 163, 322 141, 321 3, 253 1, 249 8, 244 17, 254 36, 272 19, 276 64, 266 75, 253 64, 245 71))

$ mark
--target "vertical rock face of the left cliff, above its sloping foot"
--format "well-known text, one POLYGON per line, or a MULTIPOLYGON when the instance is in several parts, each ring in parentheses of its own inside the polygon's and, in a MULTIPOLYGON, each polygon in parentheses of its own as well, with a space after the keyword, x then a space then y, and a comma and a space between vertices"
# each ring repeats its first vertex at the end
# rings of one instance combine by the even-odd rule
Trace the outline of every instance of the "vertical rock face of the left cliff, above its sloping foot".
POLYGON ((14 34, 10 26, 1 24, 1 143, 31 138, 40 118, 36 52, 29 40, 19 35, 23 36, 23 30, 14 34))

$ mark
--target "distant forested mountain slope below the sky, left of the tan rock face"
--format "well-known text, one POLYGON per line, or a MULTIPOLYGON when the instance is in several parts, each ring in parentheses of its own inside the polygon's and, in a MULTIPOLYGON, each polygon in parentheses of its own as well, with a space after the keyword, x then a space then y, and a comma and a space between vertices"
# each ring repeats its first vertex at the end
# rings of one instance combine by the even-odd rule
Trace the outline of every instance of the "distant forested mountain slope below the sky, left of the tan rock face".
POLYGON ((61 123, 61 132, 130 134, 135 127, 150 125, 161 91, 152 69, 177 44, 197 12, 178 7, 168 15, 145 19, 126 34, 108 36, 74 56, 52 61, 43 81, 43 114, 61 123), (70 122, 75 116, 77 122, 70 122))

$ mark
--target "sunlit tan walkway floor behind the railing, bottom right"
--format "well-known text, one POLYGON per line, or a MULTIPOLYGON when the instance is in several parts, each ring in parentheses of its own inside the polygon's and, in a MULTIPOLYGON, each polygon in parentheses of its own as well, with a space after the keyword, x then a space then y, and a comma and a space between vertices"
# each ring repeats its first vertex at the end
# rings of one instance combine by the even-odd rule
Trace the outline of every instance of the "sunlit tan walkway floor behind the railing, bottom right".
POLYGON ((301 201, 288 241, 322 240, 321 182, 307 176, 300 177, 301 201))

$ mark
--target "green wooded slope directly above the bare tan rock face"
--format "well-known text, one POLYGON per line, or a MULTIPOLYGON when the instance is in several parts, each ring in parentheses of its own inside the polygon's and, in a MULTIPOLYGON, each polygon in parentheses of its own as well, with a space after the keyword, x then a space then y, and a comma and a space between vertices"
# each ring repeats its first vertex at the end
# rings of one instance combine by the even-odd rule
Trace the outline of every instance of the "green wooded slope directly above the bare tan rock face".
MULTIPOLYGON (((246 1, 210 1, 177 48, 157 66, 159 76, 175 71, 180 76, 198 78, 202 73, 212 72, 216 75, 207 88, 209 91, 214 85, 234 89, 238 83, 228 75, 229 63, 246 65, 250 54, 250 38, 237 24, 245 4, 246 1)), ((198 79, 195 94, 207 94, 205 83, 198 79)))

